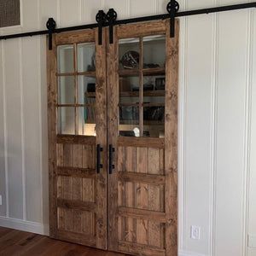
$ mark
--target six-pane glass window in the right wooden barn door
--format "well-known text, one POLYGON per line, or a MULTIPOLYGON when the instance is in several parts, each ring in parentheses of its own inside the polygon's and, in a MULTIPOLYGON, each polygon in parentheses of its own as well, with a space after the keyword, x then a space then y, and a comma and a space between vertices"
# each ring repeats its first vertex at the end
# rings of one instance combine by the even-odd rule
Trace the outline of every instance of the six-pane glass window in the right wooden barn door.
POLYGON ((119 40, 119 136, 164 137, 166 36, 119 40))

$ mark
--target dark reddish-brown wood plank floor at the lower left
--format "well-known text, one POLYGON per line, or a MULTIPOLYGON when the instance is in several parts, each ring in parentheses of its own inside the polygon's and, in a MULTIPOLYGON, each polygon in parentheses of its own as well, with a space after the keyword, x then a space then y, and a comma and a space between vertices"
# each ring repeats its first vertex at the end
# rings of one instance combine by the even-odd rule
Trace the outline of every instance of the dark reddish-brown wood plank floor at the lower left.
POLYGON ((0 227, 0 256, 124 256, 0 227))

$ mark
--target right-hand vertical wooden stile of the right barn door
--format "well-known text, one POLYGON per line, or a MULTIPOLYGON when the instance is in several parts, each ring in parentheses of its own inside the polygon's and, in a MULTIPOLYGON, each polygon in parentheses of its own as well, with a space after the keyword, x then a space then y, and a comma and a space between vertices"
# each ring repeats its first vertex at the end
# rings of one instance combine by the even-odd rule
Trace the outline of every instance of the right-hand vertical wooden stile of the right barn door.
POLYGON ((166 20, 166 255, 177 255, 177 102, 178 102, 178 37, 170 38, 170 20, 166 20))

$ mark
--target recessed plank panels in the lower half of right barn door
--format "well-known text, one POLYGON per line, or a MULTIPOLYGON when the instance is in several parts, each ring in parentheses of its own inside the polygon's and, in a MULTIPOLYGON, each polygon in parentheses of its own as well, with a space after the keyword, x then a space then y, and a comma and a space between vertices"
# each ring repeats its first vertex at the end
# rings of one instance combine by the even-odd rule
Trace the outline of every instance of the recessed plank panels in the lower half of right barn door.
POLYGON ((141 246, 164 248, 165 224, 143 216, 132 218, 139 213, 137 209, 148 211, 148 215, 165 212, 163 163, 163 148, 118 148, 119 243, 127 241, 141 246), (131 217, 122 216, 129 214, 131 217))

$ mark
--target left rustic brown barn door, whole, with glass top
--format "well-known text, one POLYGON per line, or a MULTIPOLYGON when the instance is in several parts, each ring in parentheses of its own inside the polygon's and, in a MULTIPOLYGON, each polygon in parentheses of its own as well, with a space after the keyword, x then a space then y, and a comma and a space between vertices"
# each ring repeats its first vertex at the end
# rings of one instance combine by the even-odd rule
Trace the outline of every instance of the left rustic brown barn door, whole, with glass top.
POLYGON ((64 32, 48 51, 50 236, 107 248, 106 40, 64 32))

